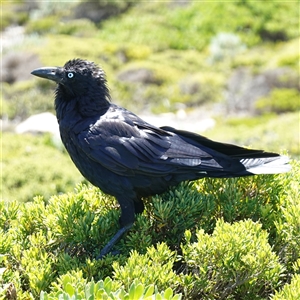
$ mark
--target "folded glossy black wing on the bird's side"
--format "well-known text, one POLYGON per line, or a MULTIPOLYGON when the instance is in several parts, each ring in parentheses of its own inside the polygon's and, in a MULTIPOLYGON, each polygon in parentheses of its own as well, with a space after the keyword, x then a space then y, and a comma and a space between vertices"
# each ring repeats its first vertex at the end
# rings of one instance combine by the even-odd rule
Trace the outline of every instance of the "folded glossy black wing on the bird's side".
POLYGON ((93 161, 125 176, 161 176, 212 159, 207 151, 137 117, 99 119, 75 143, 93 161))

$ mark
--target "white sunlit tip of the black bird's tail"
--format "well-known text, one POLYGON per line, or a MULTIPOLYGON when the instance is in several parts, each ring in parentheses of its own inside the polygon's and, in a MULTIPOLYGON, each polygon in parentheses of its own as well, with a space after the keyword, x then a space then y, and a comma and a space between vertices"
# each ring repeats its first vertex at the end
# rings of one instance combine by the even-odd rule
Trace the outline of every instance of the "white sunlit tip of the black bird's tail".
POLYGON ((277 174, 288 172, 291 169, 287 156, 245 158, 240 162, 251 174, 277 174))

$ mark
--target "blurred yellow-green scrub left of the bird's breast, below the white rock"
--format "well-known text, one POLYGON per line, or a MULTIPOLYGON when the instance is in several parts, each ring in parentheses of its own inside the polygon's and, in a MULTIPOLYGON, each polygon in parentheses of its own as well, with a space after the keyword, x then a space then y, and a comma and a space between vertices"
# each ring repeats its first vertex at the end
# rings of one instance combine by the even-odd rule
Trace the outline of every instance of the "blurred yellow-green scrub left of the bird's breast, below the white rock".
POLYGON ((3 133, 1 140, 0 191, 5 201, 30 201, 34 195, 47 201, 82 180, 70 158, 55 149, 48 137, 3 133))

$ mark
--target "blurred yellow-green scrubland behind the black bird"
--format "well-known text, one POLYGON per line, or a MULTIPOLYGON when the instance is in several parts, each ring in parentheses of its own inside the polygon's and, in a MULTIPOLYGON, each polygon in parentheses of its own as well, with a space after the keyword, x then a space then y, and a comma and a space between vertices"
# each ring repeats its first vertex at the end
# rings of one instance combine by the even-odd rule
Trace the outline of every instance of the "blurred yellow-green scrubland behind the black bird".
POLYGON ((113 101, 137 114, 198 132, 212 118, 203 133, 212 139, 299 158, 297 1, 1 5, 5 200, 47 200, 83 180, 50 135, 14 133, 29 116, 54 113, 54 85, 30 72, 75 57, 102 66, 113 101))

